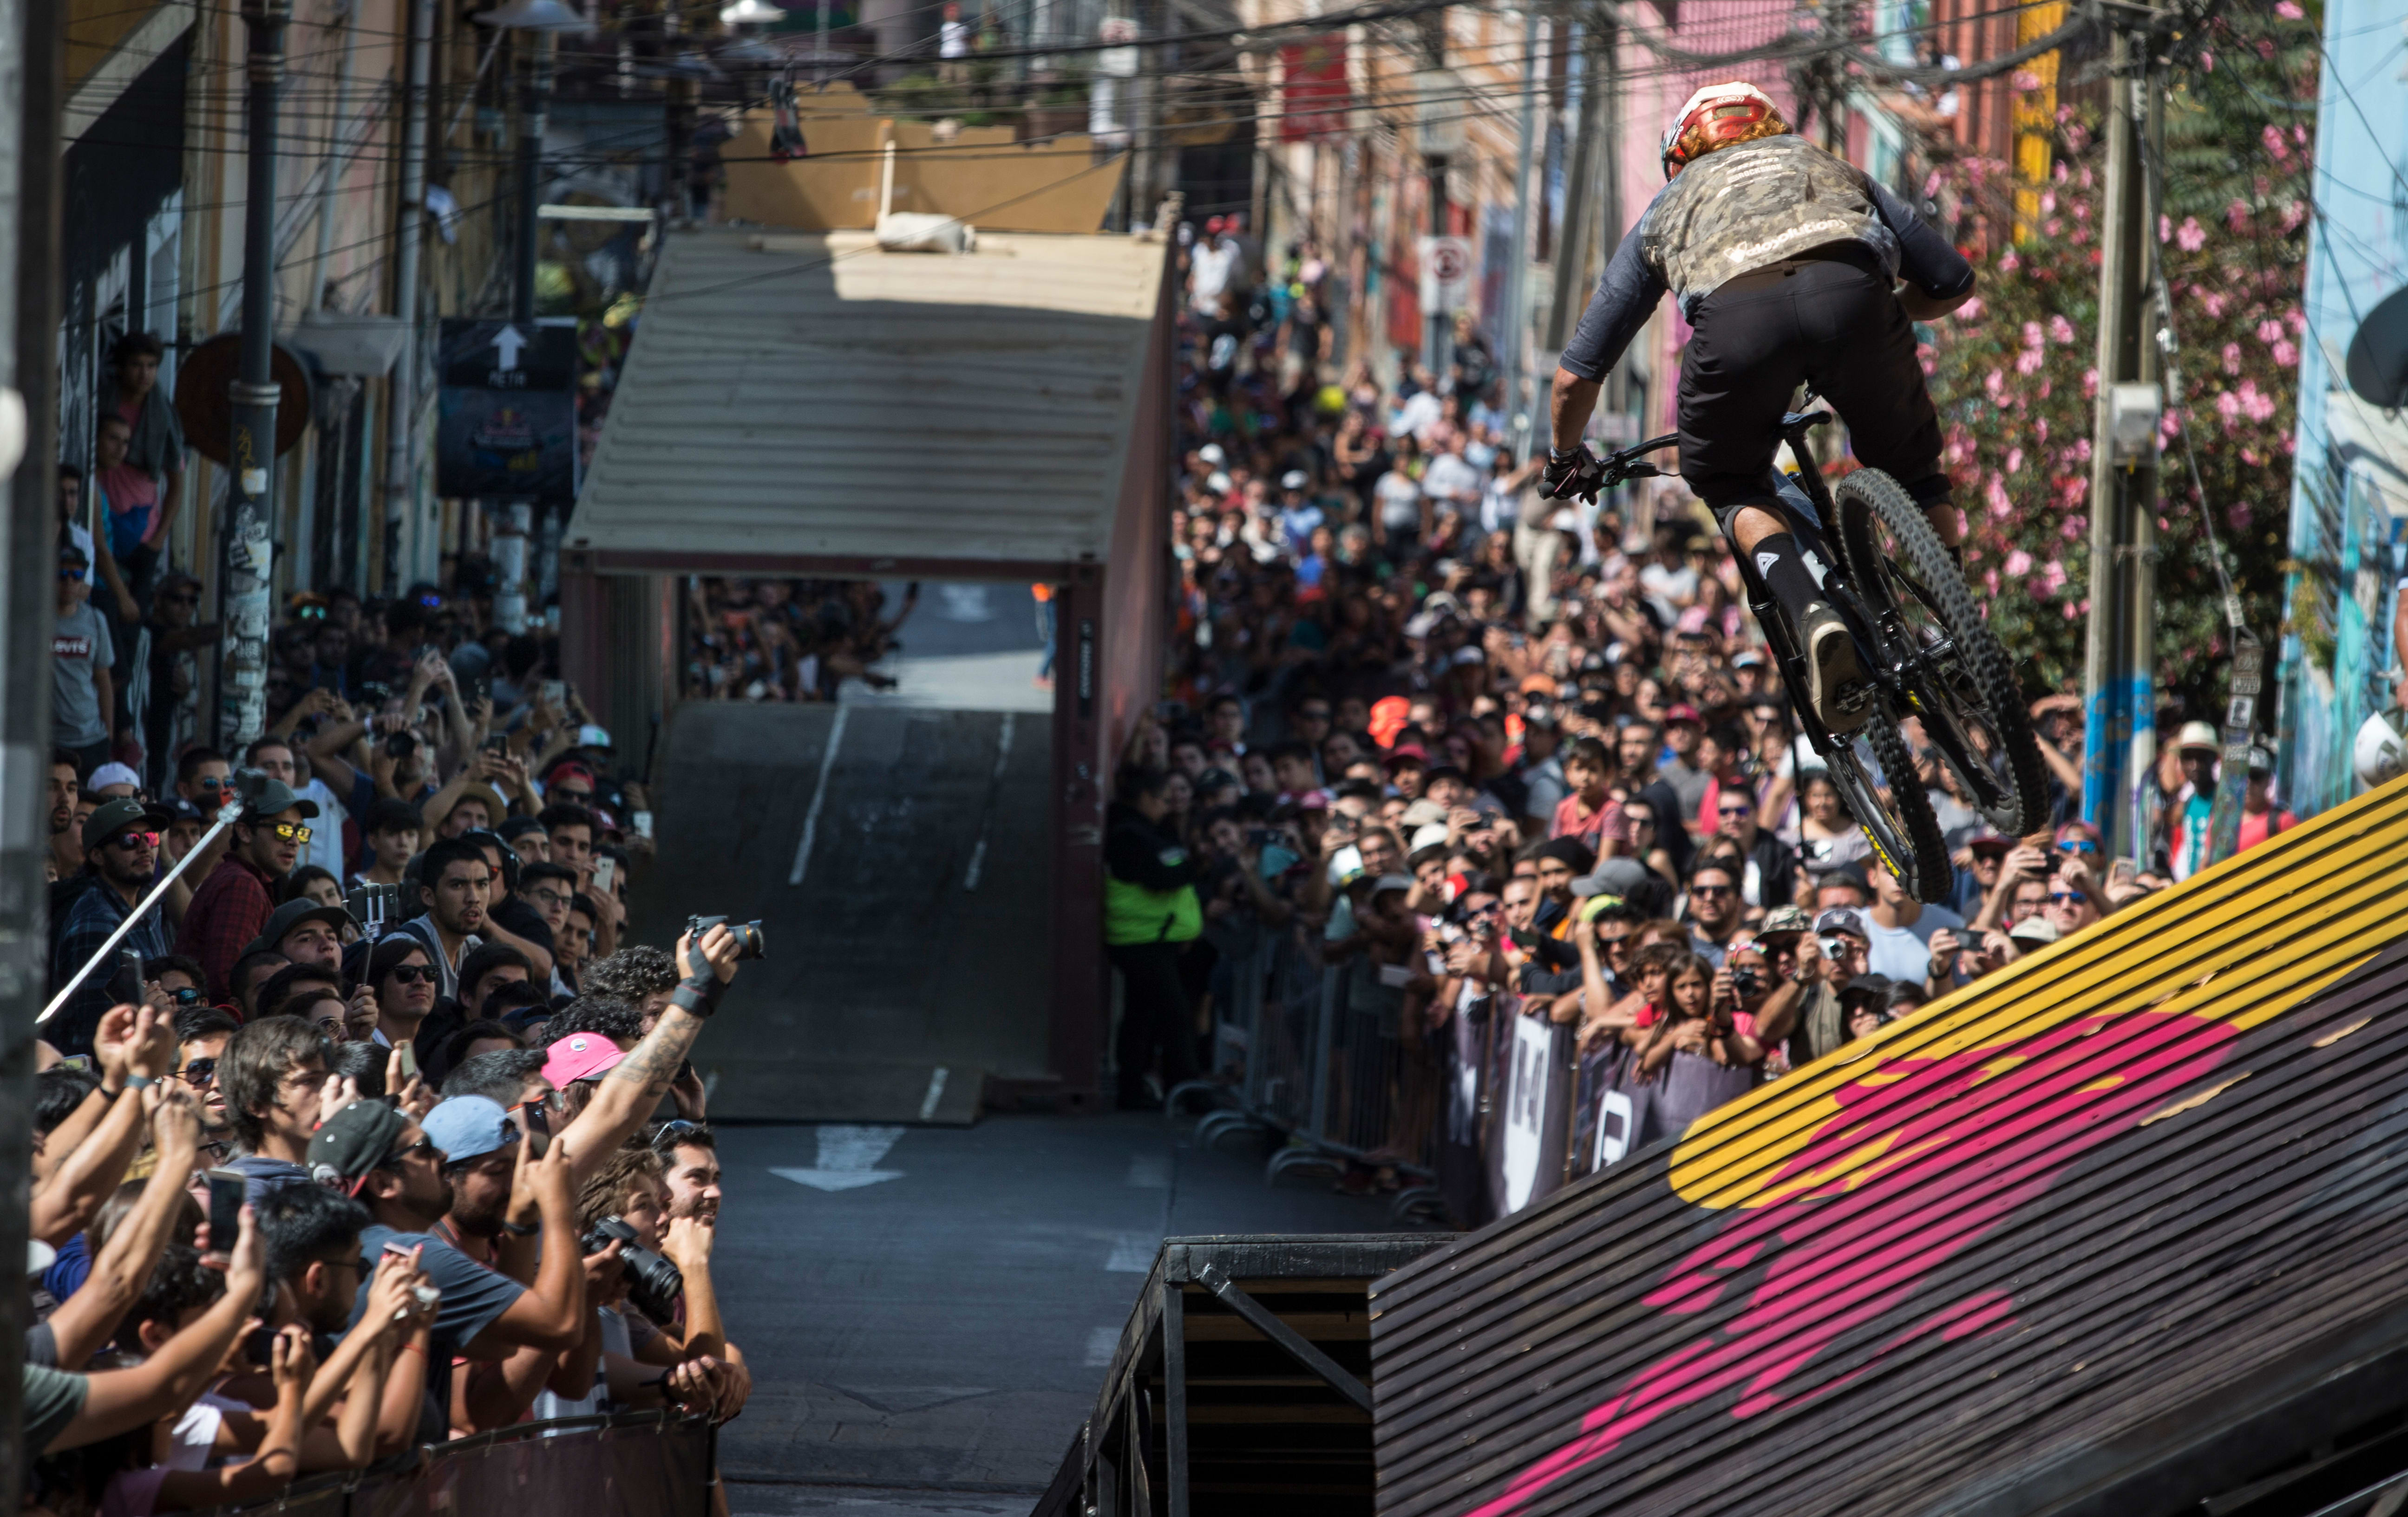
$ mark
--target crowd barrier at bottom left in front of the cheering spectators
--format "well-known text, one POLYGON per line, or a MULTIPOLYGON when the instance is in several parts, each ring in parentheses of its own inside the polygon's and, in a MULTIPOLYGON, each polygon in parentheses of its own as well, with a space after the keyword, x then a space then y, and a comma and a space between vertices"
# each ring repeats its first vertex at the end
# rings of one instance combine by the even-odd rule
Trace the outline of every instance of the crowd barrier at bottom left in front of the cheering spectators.
POLYGON ((518 1423, 429 1445, 405 1469, 294 1481, 234 1512, 294 1517, 708 1517, 718 1428, 677 1411, 518 1423))

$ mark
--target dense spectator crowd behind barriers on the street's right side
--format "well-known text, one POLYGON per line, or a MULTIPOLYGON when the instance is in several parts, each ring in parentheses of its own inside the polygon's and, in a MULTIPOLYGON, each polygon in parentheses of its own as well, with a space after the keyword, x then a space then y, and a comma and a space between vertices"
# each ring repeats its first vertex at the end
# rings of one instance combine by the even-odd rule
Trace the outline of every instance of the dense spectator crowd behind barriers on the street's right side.
MULTIPOLYGON (((1105 843, 1122 1103, 1209 1064, 1214 1009, 1269 939, 1382 1028, 1392 1141, 1348 1182, 1426 1168, 1466 1120, 1438 1093, 1469 1091, 1512 1019, 1570 1028, 1584 1105, 1645 1088, 1678 1132, 2203 867, 2215 730, 2165 713, 2160 824, 2107 860, 2081 821, 2081 701, 2042 691, 2052 814, 2030 836, 1984 826, 1912 722, 1914 773, 1876 771, 1929 792, 1953 850, 1946 898, 1912 901, 1676 479, 1544 498, 1544 436, 1515 431, 1469 318, 1447 373, 1397 354, 1382 385, 1329 368, 1310 246, 1267 267, 1214 219, 1185 258, 1178 667, 1105 843)), ((2244 848, 2295 821, 2271 768, 2251 754, 2244 848)))

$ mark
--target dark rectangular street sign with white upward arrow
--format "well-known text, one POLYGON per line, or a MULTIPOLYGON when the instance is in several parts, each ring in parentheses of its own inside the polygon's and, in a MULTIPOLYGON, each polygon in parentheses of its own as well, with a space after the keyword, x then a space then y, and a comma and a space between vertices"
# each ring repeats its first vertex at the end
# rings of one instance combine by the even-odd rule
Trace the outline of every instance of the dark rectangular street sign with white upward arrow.
POLYGON ((445 320, 438 371, 436 494, 576 503, 573 325, 445 320))

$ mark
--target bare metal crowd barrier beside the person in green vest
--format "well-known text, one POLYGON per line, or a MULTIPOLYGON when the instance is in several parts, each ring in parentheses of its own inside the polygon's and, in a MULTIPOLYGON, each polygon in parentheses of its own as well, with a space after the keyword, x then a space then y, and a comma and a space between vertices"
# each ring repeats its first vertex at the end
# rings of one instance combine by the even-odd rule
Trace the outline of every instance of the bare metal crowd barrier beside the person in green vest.
POLYGON ((1255 927, 1216 946, 1214 1069, 1170 1091, 1170 1115, 1202 1096, 1218 1110, 1197 1122, 1197 1144, 1235 1132, 1279 1141, 1264 1165, 1267 1185, 1339 1177, 1351 1168, 1394 1170, 1401 1180, 1394 1216, 1435 1209, 1435 1045, 1404 1035, 1389 1026, 1392 1016, 1351 1007, 1351 970, 1322 963, 1315 932, 1255 927))

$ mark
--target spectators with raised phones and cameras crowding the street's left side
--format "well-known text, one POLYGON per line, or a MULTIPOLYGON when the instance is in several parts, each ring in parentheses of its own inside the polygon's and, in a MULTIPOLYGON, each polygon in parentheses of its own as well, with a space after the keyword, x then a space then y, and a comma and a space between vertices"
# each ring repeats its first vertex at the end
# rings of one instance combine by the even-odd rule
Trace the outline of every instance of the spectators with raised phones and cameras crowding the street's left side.
POLYGON ((737 1416, 686 1059, 737 939, 631 939, 650 802, 479 561, 294 595, 265 732, 212 746, 222 626, 161 551, 183 441, 157 359, 120 342, 99 467, 60 472, 29 1510, 737 1416))

